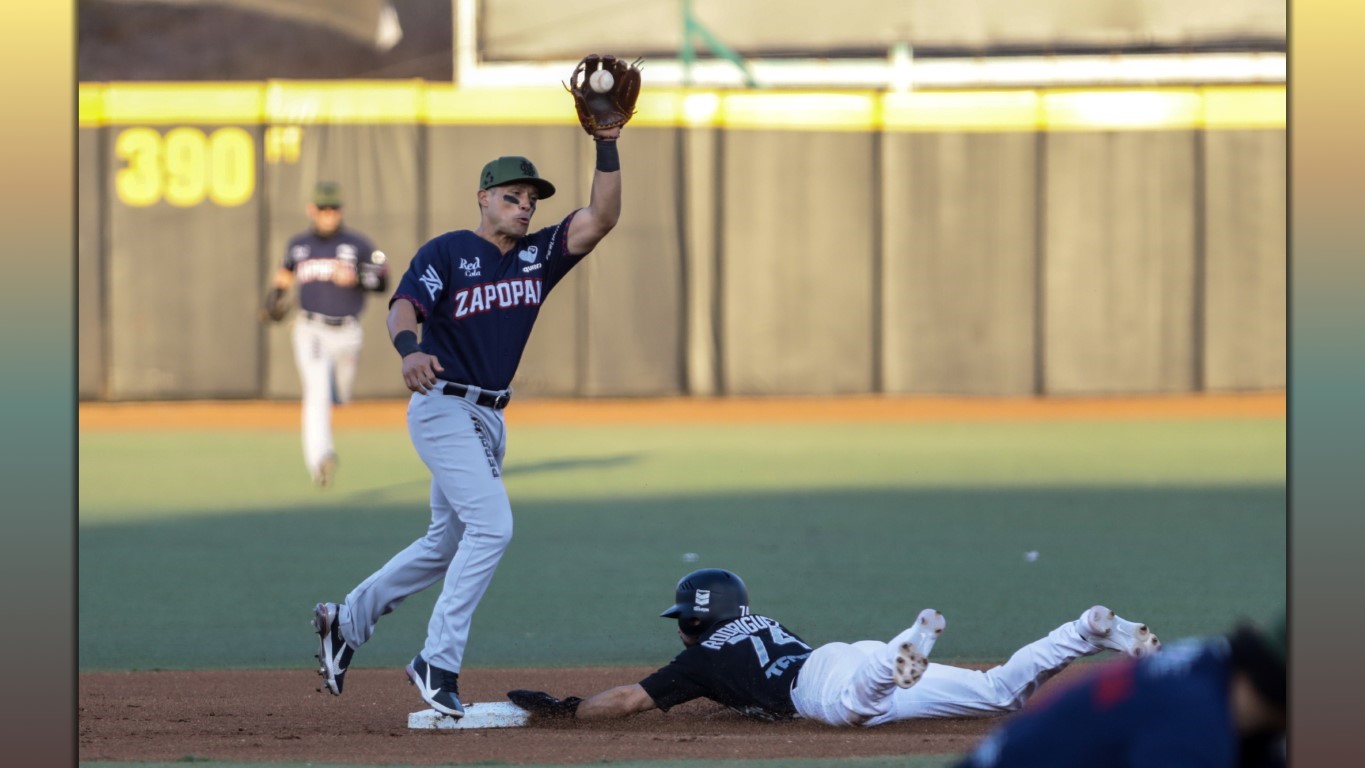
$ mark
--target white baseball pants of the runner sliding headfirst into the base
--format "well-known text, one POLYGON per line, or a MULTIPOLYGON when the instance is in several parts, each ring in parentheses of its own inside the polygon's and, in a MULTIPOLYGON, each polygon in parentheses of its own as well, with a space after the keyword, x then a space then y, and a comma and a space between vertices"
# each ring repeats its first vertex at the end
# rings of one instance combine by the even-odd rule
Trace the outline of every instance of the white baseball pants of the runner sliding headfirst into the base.
POLYGON ((1003 664, 968 670, 930 663, 910 688, 893 681, 897 643, 863 640, 816 648, 797 675, 792 704, 803 718, 831 726, 879 726, 917 718, 972 718, 1013 712, 1048 678, 1102 651, 1067 622, 1014 652, 1003 664))

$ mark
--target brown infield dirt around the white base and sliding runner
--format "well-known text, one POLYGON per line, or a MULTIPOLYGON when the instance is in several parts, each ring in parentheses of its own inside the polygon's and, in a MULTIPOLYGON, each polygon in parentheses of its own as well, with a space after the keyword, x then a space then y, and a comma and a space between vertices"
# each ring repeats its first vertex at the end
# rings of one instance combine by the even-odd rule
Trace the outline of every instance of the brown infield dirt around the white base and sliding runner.
MULTIPOLYGON (((1040 697, 1093 670, 1081 664, 1040 697)), ((636 682, 652 667, 467 670, 465 701, 505 701, 534 688, 591 694, 636 682)), ((319 692, 313 668, 236 671, 82 673, 81 760, 187 757, 232 761, 359 764, 571 764, 603 760, 760 760, 965 752, 995 723, 935 719, 875 728, 835 728, 808 720, 766 723, 710 701, 607 723, 536 722, 519 728, 410 730, 426 709, 401 670, 356 668, 345 690, 319 692)), ((1037 701, 1037 697, 1035 697, 1037 701)))

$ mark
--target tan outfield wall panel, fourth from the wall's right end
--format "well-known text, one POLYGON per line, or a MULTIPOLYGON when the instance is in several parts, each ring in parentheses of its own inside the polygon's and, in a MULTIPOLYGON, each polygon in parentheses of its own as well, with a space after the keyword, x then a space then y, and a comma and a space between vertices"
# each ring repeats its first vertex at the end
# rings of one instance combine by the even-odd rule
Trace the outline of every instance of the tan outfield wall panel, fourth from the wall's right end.
POLYGON ((871 392, 874 136, 732 131, 723 143, 723 392, 871 392))

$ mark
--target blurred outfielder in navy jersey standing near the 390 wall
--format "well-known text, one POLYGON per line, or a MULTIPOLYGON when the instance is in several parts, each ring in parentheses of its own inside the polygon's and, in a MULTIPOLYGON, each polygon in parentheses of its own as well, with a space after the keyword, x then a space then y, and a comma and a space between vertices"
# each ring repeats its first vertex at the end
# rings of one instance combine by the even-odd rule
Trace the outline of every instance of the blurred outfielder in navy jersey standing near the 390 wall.
POLYGON ((283 321, 289 311, 285 296, 299 284, 293 361, 303 382, 303 462, 313 482, 326 487, 337 469, 332 405, 349 401, 355 390, 364 295, 388 288, 389 267, 369 237, 341 225, 337 183, 318 181, 307 213, 313 226, 289 240, 263 315, 283 321))

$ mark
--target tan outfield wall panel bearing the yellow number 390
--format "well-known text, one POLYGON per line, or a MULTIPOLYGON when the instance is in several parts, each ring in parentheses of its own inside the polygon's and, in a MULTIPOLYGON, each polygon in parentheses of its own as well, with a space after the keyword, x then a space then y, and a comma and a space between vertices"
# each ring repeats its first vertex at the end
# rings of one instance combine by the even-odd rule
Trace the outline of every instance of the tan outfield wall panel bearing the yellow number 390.
MULTIPOLYGON (((212 151, 209 136, 259 142, 259 125, 141 128, 105 134, 106 177, 126 199, 108 220, 106 319, 111 400, 259 397, 261 359, 255 311, 261 217, 253 199, 205 205, 212 187, 190 168, 212 151), (220 128, 227 134, 217 134, 220 128), (121 141, 120 141, 121 139, 121 141), (130 158, 142 157, 146 161, 130 158), (135 162, 138 165, 128 165, 135 162), (157 181, 138 180, 141 164, 168 168, 157 181), (184 173, 176 165, 183 164, 184 173), (120 175, 123 181, 119 181, 120 175), (146 195, 146 196, 143 196, 146 195)), ((243 145, 244 146, 244 145, 243 145)), ((231 151, 231 147, 229 147, 231 151)), ((254 164, 238 171, 255 173, 254 164)), ((240 180, 225 180, 232 194, 240 180)))

